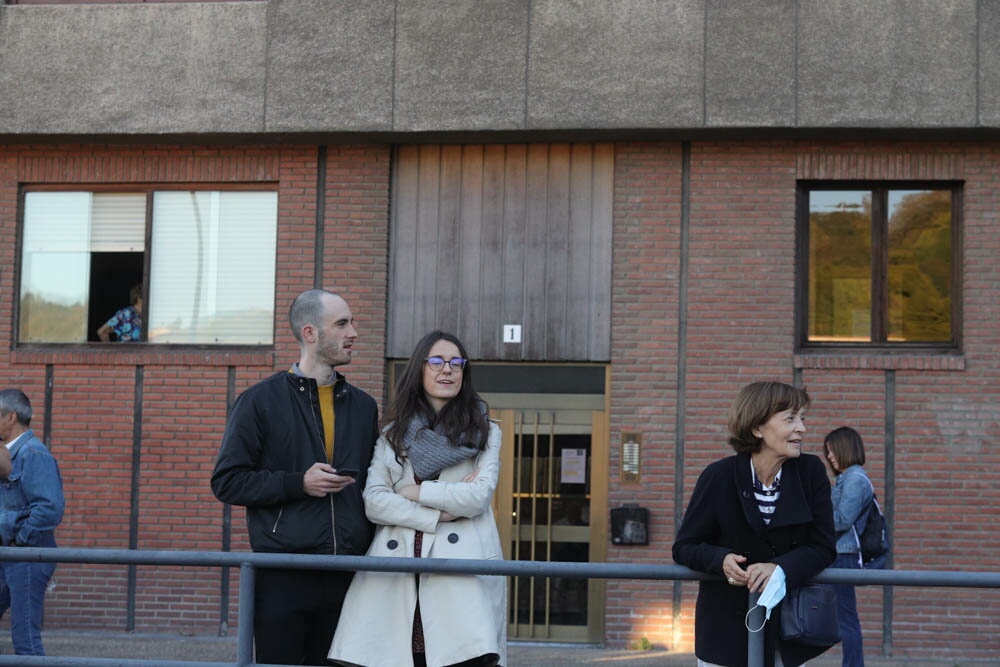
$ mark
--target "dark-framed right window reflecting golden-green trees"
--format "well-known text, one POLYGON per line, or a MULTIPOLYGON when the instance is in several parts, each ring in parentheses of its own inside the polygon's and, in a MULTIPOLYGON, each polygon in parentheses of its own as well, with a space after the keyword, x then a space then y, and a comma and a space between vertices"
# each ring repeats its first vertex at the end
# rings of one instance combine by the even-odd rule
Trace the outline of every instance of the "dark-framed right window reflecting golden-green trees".
POLYGON ((800 183, 800 347, 957 346, 960 200, 956 183, 800 183))

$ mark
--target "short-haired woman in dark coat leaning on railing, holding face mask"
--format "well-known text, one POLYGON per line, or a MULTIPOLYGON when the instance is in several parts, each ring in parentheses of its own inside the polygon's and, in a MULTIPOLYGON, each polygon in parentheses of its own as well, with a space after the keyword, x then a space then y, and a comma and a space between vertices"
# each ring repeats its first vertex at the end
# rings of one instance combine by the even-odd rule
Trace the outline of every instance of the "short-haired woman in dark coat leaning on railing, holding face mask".
MULTIPOLYGON (((819 457, 802 453, 808 407, 809 395, 791 385, 743 387, 729 412, 736 455, 709 465, 695 484, 674 560, 722 577, 699 582, 699 665, 745 665, 748 591, 762 592, 773 576, 789 588, 803 584, 837 555, 830 481, 819 457)), ((763 629, 767 667, 795 667, 826 650, 780 641, 780 625, 778 605, 763 629)))

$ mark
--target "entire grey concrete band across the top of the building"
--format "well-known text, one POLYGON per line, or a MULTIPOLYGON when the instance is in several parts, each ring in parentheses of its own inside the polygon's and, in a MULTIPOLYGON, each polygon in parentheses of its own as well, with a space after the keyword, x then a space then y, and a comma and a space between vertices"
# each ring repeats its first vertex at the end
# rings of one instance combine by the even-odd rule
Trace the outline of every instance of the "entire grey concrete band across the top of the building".
POLYGON ((1000 128, 976 0, 0 5, 0 136, 1000 128))

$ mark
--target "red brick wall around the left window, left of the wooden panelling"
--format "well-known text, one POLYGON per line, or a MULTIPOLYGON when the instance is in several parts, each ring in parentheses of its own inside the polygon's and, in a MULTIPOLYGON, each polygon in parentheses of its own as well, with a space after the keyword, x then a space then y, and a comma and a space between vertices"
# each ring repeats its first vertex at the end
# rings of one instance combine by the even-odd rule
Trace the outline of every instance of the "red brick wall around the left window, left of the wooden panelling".
MULTIPOLYGON (((381 403, 389 151, 337 147, 326 192, 322 286, 352 303, 362 342, 349 379, 381 403), (349 260, 345 258, 350 258, 349 260), (362 270, 360 267, 364 267, 362 270)), ((177 352, 120 349, 17 350, 0 358, 5 384, 22 387, 45 428, 46 367, 52 369, 48 443, 59 460, 67 547, 128 548, 133 462, 138 462, 140 549, 222 548, 223 506, 208 478, 225 427, 230 373, 236 393, 298 358, 287 326, 296 294, 313 287, 316 246, 316 147, 209 148, 44 146, 0 149, 0 229, 16 237, 19 184, 276 183, 278 248, 275 351, 177 352), (138 387, 140 446, 133 451, 138 387)), ((14 294, 13 243, 0 249, 4 302, 14 294)), ((10 349, 12 309, 0 310, 0 344, 10 349)), ((247 549, 243 513, 234 508, 234 550, 247 549)), ((62 564, 47 596, 47 627, 125 629, 127 568, 62 564)), ((135 629, 215 633, 219 572, 206 568, 137 568, 135 629)), ((236 609, 235 578, 231 609, 236 609)), ((235 612, 225 619, 235 625, 235 612)))

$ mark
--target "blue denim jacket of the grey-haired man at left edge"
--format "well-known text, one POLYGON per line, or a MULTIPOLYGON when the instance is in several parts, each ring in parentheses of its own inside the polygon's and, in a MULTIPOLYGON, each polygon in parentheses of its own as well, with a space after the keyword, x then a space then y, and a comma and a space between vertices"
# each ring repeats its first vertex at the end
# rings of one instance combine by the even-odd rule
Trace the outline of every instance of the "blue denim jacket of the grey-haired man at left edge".
POLYGON ((56 529, 62 521, 66 501, 62 477, 56 460, 47 451, 24 448, 21 463, 21 492, 28 505, 28 515, 15 530, 17 544, 35 546, 38 536, 56 529))

